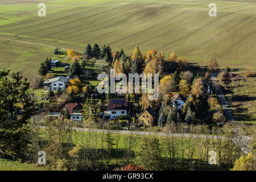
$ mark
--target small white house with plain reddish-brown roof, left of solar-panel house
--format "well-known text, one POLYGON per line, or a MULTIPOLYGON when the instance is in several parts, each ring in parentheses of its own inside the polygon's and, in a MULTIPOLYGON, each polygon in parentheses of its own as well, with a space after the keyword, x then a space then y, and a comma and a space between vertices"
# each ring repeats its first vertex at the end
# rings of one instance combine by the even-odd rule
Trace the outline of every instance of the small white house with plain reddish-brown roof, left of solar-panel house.
POLYGON ((82 104, 68 103, 68 112, 73 121, 82 121, 82 104))

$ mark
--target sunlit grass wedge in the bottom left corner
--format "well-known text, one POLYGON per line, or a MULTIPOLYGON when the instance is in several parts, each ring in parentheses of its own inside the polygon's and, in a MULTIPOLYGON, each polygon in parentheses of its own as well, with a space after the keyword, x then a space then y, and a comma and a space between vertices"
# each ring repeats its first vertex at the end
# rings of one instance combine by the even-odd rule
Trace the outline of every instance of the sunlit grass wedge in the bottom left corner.
POLYGON ((43 167, 36 167, 33 164, 19 163, 7 159, 0 159, 0 171, 42 171, 43 167))

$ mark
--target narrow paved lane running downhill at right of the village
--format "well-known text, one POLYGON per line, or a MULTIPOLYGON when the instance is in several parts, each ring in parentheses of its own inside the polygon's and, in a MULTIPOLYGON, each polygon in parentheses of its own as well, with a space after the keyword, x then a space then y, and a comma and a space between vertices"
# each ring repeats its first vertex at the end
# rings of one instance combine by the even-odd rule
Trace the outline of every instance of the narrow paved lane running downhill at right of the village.
POLYGON ((212 78, 213 84, 216 84, 216 86, 218 87, 218 90, 217 90, 216 94, 217 94, 218 100, 220 101, 221 106, 224 109, 224 114, 226 116, 226 119, 228 121, 232 122, 232 121, 234 121, 234 118, 233 118, 232 113, 229 109, 228 101, 226 101, 225 94, 223 93, 220 85, 217 82, 217 76, 218 76, 218 73, 216 73, 216 74, 210 73, 210 78, 212 78))

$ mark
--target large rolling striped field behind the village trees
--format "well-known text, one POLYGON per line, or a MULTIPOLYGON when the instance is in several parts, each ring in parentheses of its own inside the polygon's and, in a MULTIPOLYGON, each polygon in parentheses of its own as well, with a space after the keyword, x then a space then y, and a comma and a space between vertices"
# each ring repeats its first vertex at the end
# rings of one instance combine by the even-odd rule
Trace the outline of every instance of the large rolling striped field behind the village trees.
POLYGON ((256 68, 254 0, 215 1, 216 17, 208 15, 210 1, 47 0, 46 17, 37 15, 40 2, 0 0, 2 66, 19 70, 40 52, 25 76, 35 75, 54 47, 82 51, 87 43, 128 55, 136 45, 166 57, 175 50, 192 63, 216 57, 221 67, 256 68))

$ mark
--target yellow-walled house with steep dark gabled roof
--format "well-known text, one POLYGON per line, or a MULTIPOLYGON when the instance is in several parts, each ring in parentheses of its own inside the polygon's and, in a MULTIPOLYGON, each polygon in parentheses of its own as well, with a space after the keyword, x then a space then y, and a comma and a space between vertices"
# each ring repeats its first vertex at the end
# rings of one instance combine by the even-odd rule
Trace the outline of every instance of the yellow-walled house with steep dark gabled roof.
POLYGON ((138 116, 138 120, 143 125, 153 126, 158 119, 158 113, 152 107, 148 106, 141 114, 138 116))

